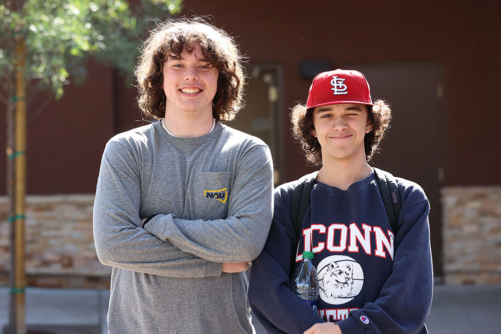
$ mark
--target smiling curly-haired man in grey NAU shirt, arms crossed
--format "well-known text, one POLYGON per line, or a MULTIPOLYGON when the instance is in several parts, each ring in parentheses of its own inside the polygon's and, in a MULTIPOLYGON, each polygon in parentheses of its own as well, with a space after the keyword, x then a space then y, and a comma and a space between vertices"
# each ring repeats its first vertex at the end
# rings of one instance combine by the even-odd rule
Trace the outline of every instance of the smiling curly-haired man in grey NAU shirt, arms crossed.
POLYGON ((242 104, 241 55, 199 18, 151 32, 135 70, 157 119, 107 143, 94 204, 112 266, 109 333, 252 333, 249 262, 272 219, 273 167, 260 139, 221 122, 242 104))

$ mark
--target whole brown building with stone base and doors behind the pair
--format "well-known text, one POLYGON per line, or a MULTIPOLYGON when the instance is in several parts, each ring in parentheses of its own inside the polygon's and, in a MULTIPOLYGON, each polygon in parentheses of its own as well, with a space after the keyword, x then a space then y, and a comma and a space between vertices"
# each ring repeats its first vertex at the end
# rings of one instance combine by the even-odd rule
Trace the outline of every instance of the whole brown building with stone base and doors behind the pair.
MULTIPOLYGON (((435 279, 501 283, 498 2, 184 0, 183 6, 182 15, 212 16, 248 57, 246 107, 227 125, 270 145, 276 184, 312 170, 292 139, 290 108, 306 102, 317 73, 359 70, 372 98, 393 109, 373 165, 419 183, 429 197, 435 279)), ((111 268, 97 260, 92 237, 101 155, 114 134, 146 123, 133 82, 94 60, 87 70, 84 84, 67 87, 29 125, 29 286, 109 285, 111 268)), ((40 94, 29 115, 44 101, 40 94)), ((0 144, 5 137, 0 127, 0 144)), ((2 175, 5 166, 0 155, 2 175)), ((5 189, 0 178, 0 285, 7 286, 5 189)))

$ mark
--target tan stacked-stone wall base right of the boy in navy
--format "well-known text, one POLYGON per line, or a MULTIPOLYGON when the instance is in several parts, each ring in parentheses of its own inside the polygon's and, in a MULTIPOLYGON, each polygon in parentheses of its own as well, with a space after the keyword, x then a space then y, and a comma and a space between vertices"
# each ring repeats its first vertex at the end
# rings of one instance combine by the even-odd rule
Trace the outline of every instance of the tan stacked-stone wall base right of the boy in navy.
POLYGON ((442 189, 445 283, 501 283, 501 187, 442 189))

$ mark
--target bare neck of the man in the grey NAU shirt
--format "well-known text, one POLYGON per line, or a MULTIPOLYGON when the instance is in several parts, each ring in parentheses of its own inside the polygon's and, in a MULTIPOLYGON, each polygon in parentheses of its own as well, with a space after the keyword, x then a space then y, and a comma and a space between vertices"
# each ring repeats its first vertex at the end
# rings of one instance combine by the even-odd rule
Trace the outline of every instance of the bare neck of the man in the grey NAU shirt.
POLYGON ((173 115, 165 111, 164 124, 170 133, 177 137, 193 138, 206 135, 212 128, 212 122, 212 113, 173 115))

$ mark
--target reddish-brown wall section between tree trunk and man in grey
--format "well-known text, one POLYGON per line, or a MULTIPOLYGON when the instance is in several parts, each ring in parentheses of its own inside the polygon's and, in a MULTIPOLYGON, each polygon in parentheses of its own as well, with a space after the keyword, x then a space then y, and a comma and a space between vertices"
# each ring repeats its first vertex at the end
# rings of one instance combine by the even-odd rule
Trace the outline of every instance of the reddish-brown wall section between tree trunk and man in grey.
MULTIPOLYGON (((65 88, 28 125, 28 194, 93 193, 104 145, 113 135, 112 70, 90 60, 83 85, 65 88)), ((29 102, 28 118, 43 103, 47 92, 29 102)), ((4 105, 0 112, 5 115, 4 105)), ((5 147, 6 126, 0 126, 5 147)), ((6 194, 6 157, 0 155, 0 195, 6 194)))

